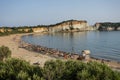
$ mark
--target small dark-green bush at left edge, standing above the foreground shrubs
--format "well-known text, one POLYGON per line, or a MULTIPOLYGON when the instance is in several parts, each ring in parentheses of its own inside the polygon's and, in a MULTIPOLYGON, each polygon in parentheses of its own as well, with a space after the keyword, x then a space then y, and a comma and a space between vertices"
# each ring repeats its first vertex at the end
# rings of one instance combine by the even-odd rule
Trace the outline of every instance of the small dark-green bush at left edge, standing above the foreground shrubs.
POLYGON ((11 56, 11 51, 6 46, 0 47, 0 60, 3 61, 3 59, 8 58, 11 56))

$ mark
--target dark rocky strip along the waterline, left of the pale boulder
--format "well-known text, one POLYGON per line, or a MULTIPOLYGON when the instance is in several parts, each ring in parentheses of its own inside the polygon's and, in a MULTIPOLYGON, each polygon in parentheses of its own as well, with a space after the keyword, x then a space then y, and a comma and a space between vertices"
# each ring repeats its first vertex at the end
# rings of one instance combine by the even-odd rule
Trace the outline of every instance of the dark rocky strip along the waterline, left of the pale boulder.
POLYGON ((41 53, 44 55, 49 55, 49 56, 59 58, 59 59, 62 58, 62 59, 82 60, 82 58, 83 58, 79 54, 68 53, 68 52, 60 51, 60 50, 53 49, 53 48, 43 47, 40 45, 33 45, 30 43, 26 43, 24 41, 20 42, 19 48, 24 48, 24 49, 29 50, 29 51, 38 52, 38 53, 41 53))

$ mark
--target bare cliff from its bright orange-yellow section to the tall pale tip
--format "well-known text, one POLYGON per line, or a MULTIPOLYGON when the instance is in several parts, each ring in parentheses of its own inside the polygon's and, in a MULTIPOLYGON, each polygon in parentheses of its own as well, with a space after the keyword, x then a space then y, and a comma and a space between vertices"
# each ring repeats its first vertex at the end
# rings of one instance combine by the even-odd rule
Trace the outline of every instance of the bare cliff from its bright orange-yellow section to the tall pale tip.
POLYGON ((33 32, 64 32, 90 30, 87 21, 68 20, 53 25, 32 27, 33 32))

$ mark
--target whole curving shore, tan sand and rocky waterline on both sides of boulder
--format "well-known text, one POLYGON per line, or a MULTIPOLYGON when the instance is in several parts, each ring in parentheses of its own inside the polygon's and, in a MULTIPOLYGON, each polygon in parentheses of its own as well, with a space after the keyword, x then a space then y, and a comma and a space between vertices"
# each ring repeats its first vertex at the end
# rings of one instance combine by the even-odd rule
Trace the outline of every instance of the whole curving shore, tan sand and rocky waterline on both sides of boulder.
MULTIPOLYGON (((30 62, 30 64, 39 63, 40 66, 44 66, 44 63, 48 60, 56 60, 58 59, 73 59, 73 60, 81 60, 81 56, 79 54, 69 54, 64 51, 59 51, 52 48, 47 48, 43 46, 37 46, 29 43, 22 43, 21 46, 21 37, 30 34, 39 34, 39 33, 23 33, 23 34, 13 34, 9 36, 0 36, 0 45, 4 45, 9 47, 12 51, 12 57, 20 58, 30 62), (26 45, 23 47, 23 45, 26 45), (34 50, 28 50, 30 48, 34 48, 34 50), (37 51, 38 50, 38 51, 37 51), (42 52, 40 52, 42 51, 42 52)), ((43 33, 41 33, 43 34, 43 33)), ((105 63, 113 70, 120 71, 120 62, 112 61, 112 60, 104 60, 97 59, 91 57, 91 61, 97 61, 100 63, 105 63)))

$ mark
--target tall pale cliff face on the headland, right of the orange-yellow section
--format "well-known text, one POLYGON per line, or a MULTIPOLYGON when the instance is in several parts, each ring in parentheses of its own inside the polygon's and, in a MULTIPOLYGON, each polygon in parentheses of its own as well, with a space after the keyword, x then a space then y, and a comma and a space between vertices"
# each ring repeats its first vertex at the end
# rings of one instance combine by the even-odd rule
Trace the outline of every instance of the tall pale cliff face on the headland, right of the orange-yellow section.
POLYGON ((70 20, 49 27, 49 32, 87 30, 87 21, 70 20))

